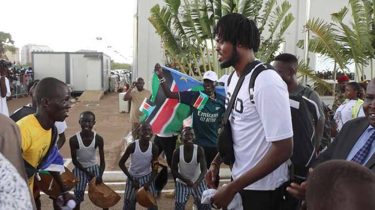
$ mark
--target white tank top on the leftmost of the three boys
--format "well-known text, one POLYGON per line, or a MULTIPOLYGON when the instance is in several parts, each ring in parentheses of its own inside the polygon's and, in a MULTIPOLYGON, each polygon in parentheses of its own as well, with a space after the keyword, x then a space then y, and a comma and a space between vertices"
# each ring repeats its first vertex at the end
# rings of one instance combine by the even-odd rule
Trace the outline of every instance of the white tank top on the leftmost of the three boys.
POLYGON ((95 149, 96 132, 94 131, 94 139, 89 146, 85 146, 83 144, 81 134, 79 132, 75 133, 75 135, 77 136, 79 144, 79 149, 77 149, 77 161, 81 163, 84 168, 89 168, 98 164, 95 149))

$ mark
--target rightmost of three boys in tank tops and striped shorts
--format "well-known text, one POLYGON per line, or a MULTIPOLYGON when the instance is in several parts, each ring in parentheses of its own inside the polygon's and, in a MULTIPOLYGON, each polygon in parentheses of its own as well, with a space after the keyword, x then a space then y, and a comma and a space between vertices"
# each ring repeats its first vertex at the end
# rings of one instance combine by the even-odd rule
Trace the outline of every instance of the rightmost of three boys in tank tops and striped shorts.
POLYGON ((201 204, 203 191, 207 190, 204 180, 207 168, 203 147, 194 145, 194 130, 186 127, 181 132, 184 145, 173 152, 171 171, 177 178, 174 210, 185 210, 190 194, 198 210, 211 210, 211 205, 201 204))

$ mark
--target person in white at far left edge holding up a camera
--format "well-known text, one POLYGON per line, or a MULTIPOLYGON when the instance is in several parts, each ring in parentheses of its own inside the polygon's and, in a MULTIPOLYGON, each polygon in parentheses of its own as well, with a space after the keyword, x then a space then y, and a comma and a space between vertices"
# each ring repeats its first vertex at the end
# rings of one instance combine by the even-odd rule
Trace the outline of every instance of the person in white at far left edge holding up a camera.
POLYGON ((8 106, 6 105, 6 97, 10 97, 9 80, 6 78, 6 72, 12 63, 5 60, 0 60, 0 113, 9 116, 8 106))

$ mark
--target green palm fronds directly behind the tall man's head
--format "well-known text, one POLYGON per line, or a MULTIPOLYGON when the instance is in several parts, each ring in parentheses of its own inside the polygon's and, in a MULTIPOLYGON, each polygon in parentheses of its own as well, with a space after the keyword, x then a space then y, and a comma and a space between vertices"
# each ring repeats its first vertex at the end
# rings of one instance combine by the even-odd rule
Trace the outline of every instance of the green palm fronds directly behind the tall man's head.
POLYGON ((219 69, 215 53, 209 53, 214 46, 213 28, 218 19, 229 13, 241 13, 253 19, 261 35, 268 26, 270 35, 262 37, 262 45, 256 56, 264 62, 273 60, 274 54, 284 41, 283 34, 294 20, 288 13, 291 5, 285 0, 276 5, 276 0, 164 0, 166 5, 158 4, 150 10, 150 22, 162 38, 162 46, 168 51, 169 61, 179 63, 180 70, 193 75, 192 65, 200 61, 203 70, 213 70, 220 77, 227 72, 219 69), (260 15, 260 13, 262 15, 260 15), (211 64, 212 61, 212 64, 211 64))

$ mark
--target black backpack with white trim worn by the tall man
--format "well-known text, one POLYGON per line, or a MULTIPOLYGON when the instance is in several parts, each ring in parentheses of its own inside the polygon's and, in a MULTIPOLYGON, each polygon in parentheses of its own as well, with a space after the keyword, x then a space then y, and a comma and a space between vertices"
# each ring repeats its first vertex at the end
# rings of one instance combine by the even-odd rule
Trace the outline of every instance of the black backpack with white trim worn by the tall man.
MULTIPOLYGON (((250 77, 249 93, 250 102, 254 104, 254 84, 258 75, 266 70, 274 69, 270 64, 259 65, 254 69, 250 77)), ((233 76, 234 71, 228 77, 228 84, 233 76)), ((305 179, 311 160, 315 155, 314 136, 315 126, 318 122, 319 111, 316 103, 307 97, 290 96, 290 110, 293 125, 293 155, 287 161, 289 165, 289 175, 293 180, 294 177, 305 179)))

